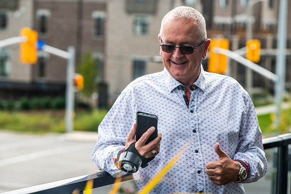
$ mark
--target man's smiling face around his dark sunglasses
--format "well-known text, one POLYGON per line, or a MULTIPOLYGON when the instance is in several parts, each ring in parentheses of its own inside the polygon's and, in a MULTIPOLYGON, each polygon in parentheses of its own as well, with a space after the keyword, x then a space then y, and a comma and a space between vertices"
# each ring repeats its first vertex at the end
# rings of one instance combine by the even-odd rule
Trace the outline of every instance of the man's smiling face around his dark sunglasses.
MULTIPOLYGON (((159 34, 159 40, 162 44, 180 46, 196 46, 203 39, 198 38, 197 29, 192 20, 170 19, 165 21, 162 28, 162 35, 159 34)), ((170 75, 183 83, 191 85, 199 77, 202 58, 206 58, 207 50, 210 45, 210 39, 207 39, 192 54, 183 54, 176 48, 173 53, 164 52, 161 48, 162 62, 170 75)))

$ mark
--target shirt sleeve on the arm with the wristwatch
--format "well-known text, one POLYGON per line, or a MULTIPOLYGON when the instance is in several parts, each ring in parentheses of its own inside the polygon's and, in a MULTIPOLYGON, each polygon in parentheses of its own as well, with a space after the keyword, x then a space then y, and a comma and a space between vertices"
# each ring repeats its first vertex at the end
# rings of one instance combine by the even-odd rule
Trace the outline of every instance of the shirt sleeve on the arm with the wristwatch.
POLYGON ((234 160, 249 163, 250 174, 243 183, 255 182, 266 174, 268 162, 263 151, 262 133, 256 110, 247 93, 244 94, 244 111, 241 123, 239 144, 234 160))

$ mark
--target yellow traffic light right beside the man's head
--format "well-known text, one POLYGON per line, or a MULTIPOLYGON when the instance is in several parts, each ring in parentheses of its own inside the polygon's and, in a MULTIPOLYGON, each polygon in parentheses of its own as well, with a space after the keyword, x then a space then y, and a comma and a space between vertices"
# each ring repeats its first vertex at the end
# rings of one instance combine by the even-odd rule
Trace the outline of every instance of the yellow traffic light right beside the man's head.
POLYGON ((228 57, 224 54, 214 52, 214 48, 229 49, 229 41, 227 39, 211 39, 210 59, 208 63, 208 71, 213 73, 225 74, 228 69, 228 57))

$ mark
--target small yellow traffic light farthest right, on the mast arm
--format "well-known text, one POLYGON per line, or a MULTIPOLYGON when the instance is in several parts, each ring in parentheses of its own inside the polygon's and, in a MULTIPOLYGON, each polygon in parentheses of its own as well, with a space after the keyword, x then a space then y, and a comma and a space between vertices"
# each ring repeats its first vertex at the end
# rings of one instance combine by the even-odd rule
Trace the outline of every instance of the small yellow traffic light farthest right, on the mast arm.
POLYGON ((251 39, 246 42, 246 59, 258 63, 260 60, 260 41, 251 39))

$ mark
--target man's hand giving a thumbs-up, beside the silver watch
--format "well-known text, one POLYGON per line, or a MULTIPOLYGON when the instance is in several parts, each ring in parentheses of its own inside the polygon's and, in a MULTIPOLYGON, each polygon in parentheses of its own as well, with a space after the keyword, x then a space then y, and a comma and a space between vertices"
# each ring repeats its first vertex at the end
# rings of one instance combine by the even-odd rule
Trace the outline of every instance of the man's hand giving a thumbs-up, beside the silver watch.
POLYGON ((219 160, 206 164, 206 174, 216 185, 225 185, 236 181, 240 172, 240 165, 229 158, 225 151, 220 149, 217 143, 214 148, 219 160))

